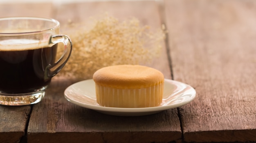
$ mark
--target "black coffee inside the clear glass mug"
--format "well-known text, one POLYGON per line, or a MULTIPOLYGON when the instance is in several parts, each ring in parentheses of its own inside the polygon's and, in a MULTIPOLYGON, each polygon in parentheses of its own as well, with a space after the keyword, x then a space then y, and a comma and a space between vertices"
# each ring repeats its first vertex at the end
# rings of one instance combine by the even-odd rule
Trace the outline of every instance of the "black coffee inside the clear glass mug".
POLYGON ((36 46, 39 43, 30 44, 28 48, 14 46, 19 47, 15 49, 7 45, 0 49, 0 92, 27 93, 49 84, 51 78, 47 77, 45 69, 55 62, 57 44, 44 48, 36 46))

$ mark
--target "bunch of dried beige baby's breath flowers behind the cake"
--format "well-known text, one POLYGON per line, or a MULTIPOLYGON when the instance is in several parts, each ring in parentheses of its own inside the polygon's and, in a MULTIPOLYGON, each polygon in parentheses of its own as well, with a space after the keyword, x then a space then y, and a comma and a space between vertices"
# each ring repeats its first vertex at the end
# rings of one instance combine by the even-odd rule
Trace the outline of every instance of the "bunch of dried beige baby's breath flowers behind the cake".
POLYGON ((88 79, 101 67, 144 64, 159 56, 162 29, 150 31, 136 18, 120 22, 108 14, 92 21, 92 26, 70 23, 66 34, 72 39, 72 55, 59 75, 88 79))

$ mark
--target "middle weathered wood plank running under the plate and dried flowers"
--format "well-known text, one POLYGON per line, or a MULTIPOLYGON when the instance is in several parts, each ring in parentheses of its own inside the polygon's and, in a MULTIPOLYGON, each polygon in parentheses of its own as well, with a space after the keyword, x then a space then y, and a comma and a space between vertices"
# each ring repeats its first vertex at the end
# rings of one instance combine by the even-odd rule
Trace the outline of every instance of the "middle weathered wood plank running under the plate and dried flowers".
MULTIPOLYGON (((58 7, 56 19, 62 24, 71 19, 81 22, 105 11, 118 18, 137 17, 160 27, 155 2, 90 2, 58 7)), ((166 54, 150 66, 171 78, 166 54)), ((28 126, 28 142, 170 142, 180 141, 182 132, 177 109, 141 117, 116 117, 71 104, 64 90, 76 81, 55 77, 45 98, 33 106, 28 126)))

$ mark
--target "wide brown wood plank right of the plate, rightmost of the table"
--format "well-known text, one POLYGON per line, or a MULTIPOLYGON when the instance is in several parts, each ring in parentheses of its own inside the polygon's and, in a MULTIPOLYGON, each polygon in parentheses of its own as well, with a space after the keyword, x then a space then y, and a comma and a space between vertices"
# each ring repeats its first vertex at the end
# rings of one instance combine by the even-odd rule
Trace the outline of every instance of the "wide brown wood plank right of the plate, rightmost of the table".
POLYGON ((165 5, 174 80, 197 91, 179 108, 184 141, 256 141, 256 1, 165 5))

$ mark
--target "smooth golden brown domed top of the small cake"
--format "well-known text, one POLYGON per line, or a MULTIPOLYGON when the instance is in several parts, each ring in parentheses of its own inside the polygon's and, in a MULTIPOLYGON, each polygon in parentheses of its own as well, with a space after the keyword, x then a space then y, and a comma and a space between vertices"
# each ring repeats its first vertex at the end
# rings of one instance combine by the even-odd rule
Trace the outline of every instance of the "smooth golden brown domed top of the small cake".
POLYGON ((97 70, 93 80, 102 86, 135 89, 163 83, 164 75, 157 69, 142 65, 114 65, 97 70))

